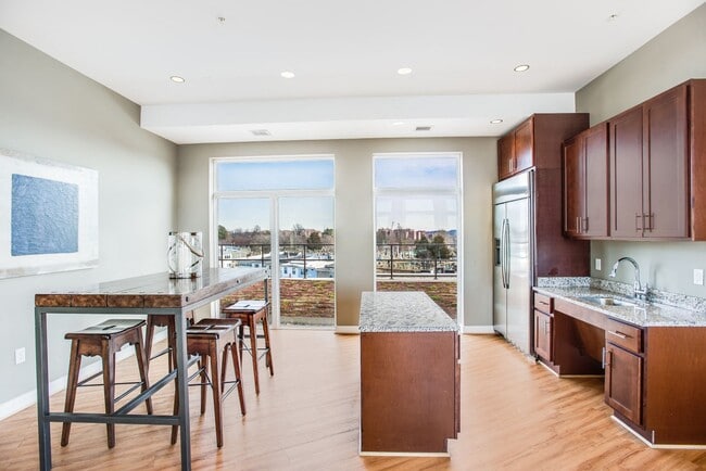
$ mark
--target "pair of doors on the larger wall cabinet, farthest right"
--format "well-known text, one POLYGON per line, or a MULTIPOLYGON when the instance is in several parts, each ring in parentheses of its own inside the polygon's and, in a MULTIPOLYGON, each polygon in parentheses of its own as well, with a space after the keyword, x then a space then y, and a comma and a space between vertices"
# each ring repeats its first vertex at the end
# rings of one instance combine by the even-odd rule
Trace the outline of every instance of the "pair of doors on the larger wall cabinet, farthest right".
POLYGON ((690 237, 686 85, 609 120, 610 236, 690 237))

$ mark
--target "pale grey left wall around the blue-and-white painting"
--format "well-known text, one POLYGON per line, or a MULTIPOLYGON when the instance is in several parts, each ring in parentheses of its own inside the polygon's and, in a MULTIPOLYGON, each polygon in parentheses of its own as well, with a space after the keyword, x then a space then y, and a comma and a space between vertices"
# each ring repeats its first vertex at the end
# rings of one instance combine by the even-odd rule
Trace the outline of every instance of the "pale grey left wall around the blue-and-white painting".
MULTIPOLYGON (((0 148, 98 170, 100 220, 97 268, 0 279, 2 412, 35 390, 37 290, 165 270, 166 234, 176 221, 176 145, 140 129, 135 103, 3 30, 0 71, 0 148), (20 347, 27 361, 15 366, 20 347)), ((52 379, 67 372, 63 333, 94 321, 52 317, 52 379)))

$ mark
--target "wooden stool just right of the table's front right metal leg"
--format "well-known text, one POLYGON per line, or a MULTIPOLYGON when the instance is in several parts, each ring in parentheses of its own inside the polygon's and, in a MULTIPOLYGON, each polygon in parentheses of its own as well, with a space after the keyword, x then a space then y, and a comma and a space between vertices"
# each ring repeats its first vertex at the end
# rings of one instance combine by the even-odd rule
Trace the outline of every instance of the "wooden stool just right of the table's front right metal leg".
MULTIPOLYGON (((187 379, 191 381, 197 375, 201 377, 201 382, 191 385, 201 386, 201 413, 206 411, 206 385, 211 386, 213 393, 213 415, 216 422, 216 444, 223 446, 223 405, 222 402, 238 387, 240 398, 240 412, 245 415, 245 397, 242 391, 242 381, 240 378, 240 359, 238 358, 238 348, 236 343, 236 329, 240 327, 239 321, 228 323, 218 322, 218 319, 202 319, 187 330, 187 351, 189 355, 200 355, 199 370, 187 379), (232 357, 235 380, 226 381, 228 366, 228 351, 232 357), (220 372, 218 371, 220 364, 220 372), (209 379, 209 369, 211 379, 209 379), (226 384, 230 384, 228 391, 226 384)), ((179 411, 178 393, 174 395, 174 413, 179 411)), ((172 444, 176 443, 178 425, 172 427, 172 444)))

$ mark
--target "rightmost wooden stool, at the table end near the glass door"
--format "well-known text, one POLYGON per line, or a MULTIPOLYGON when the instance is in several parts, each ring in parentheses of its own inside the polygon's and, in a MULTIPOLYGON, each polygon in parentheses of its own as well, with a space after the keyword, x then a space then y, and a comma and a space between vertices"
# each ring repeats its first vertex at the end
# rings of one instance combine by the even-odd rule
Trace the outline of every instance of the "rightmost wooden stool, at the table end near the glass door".
POLYGON ((242 358, 242 351, 250 353, 252 357, 252 370, 255 381, 255 394, 260 394, 260 379, 257 374, 257 360, 265 357, 265 366, 269 369, 269 375, 275 375, 275 367, 273 366, 272 349, 269 347, 269 327, 267 324, 267 310, 269 307, 268 301, 239 301, 230 306, 220 310, 224 317, 230 319, 239 319, 242 323, 238 329, 238 347, 240 349, 240 357, 242 358), (263 334, 257 334, 257 322, 262 322, 263 334), (248 338, 250 339, 250 346, 245 345, 243 327, 248 327, 248 338), (265 341, 264 347, 257 347, 257 339, 265 341))

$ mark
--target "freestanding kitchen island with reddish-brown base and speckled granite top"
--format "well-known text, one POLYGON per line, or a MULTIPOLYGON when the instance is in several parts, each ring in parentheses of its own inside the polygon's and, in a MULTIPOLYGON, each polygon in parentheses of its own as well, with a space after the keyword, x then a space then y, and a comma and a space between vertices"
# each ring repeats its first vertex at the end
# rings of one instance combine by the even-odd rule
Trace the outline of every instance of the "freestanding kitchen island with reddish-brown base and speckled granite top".
POLYGON ((423 292, 361 301, 361 455, 449 456, 461 425, 458 326, 423 292))

